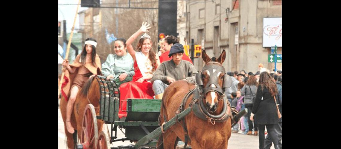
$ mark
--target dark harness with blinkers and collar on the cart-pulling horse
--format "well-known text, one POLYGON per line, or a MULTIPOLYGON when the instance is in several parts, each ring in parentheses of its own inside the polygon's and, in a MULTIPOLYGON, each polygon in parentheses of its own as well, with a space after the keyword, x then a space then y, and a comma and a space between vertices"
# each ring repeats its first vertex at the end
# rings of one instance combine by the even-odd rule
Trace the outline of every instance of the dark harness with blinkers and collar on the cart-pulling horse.
MULTIPOLYGON (((219 77, 218 74, 220 72, 225 73, 225 69, 222 66, 222 64, 218 63, 218 62, 213 62, 213 61, 208 62, 203 67, 203 70, 209 71, 211 76, 217 76, 217 77, 219 77), (218 66, 214 65, 214 64, 218 64, 218 66)), ((199 72, 198 74, 196 74, 195 80, 196 80, 196 83, 198 86, 195 87, 194 89, 190 90, 185 95, 185 97, 182 99, 182 103, 180 104, 179 109, 175 112, 175 114, 176 114, 175 117, 177 117, 180 112, 184 111, 184 107, 185 107, 185 104, 186 104, 188 98, 194 93, 193 99, 192 99, 191 103, 189 104, 189 107, 192 107, 192 111, 193 111, 195 116, 197 116, 203 120, 209 121, 212 125, 216 124, 216 122, 225 122, 228 118, 230 118, 231 122, 232 122, 233 119, 232 119, 232 113, 231 113, 231 106, 230 106, 230 103, 227 100, 225 94, 223 93, 223 90, 225 88, 231 87, 232 79, 231 79, 231 77, 229 77, 228 75, 225 74, 223 86, 221 87, 218 83, 218 79, 214 79, 214 78, 215 77, 210 77, 206 86, 204 87, 204 83, 202 80, 202 73, 199 72), (211 84, 214 84, 216 86, 216 88, 210 87, 211 84), (220 96, 218 101, 223 100, 223 103, 224 103, 223 104, 223 111, 219 115, 210 114, 204 106, 204 103, 203 103, 203 98, 205 97, 204 95, 206 95, 210 91, 216 92, 220 96)), ((163 104, 163 100, 162 100, 161 104, 162 104, 163 111, 165 111, 166 108, 163 104)), ((161 118, 161 115, 159 116, 159 123, 161 122, 160 118, 161 118)), ((162 125, 164 125, 165 122, 168 121, 168 117, 166 117, 166 115, 163 114, 163 119, 164 119, 164 123, 160 124, 161 128, 163 128, 162 125)), ((183 119, 181 121, 182 122, 180 122, 180 124, 182 125, 182 128, 184 130, 184 138, 185 138, 184 147, 186 147, 188 140, 191 141, 191 139, 189 138, 189 135, 188 135, 188 129, 186 126, 185 119, 183 119)), ((162 133, 164 133, 163 130, 162 130, 162 133)))

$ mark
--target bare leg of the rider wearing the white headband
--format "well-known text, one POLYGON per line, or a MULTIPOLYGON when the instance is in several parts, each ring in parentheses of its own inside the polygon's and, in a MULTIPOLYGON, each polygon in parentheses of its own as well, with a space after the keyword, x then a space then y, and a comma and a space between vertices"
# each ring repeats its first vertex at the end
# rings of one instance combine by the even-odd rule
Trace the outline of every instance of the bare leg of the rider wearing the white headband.
POLYGON ((74 133, 75 130, 74 128, 72 127, 71 125, 71 122, 70 122, 70 117, 71 117, 71 113, 72 113, 72 109, 73 109, 73 104, 75 103, 75 100, 76 100, 76 96, 77 96, 77 93, 78 93, 78 87, 74 86, 72 89, 71 89, 71 94, 70 94, 70 99, 68 101, 68 105, 66 106, 66 129, 69 133, 74 133))

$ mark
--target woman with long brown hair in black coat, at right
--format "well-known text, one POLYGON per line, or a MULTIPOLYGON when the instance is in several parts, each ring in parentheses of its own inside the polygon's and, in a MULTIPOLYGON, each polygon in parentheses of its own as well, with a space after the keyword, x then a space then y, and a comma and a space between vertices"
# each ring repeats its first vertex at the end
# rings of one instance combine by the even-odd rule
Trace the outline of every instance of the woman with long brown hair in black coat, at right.
POLYGON ((273 125, 278 124, 277 108, 274 96, 277 95, 276 83, 272 81, 267 72, 262 72, 259 77, 259 85, 257 88, 256 99, 252 108, 250 119, 258 124, 259 132, 259 148, 264 149, 264 131, 265 126, 275 145, 275 149, 279 149, 278 136, 273 125))

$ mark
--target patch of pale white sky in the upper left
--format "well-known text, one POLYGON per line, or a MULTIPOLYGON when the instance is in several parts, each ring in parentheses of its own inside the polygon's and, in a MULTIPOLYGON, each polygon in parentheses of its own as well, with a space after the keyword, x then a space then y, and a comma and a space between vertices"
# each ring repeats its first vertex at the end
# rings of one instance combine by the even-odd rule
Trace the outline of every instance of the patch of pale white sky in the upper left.
MULTIPOLYGON (((66 32, 71 33, 73 21, 75 19, 77 4, 79 0, 58 0, 58 4, 75 4, 75 5, 58 5, 58 21, 66 20, 66 32)), ((78 8, 78 12, 87 10, 88 7, 78 8)), ((77 14, 75 28, 79 28, 79 15, 77 14)), ((76 30, 75 30, 76 31, 76 30)), ((74 33, 76 33, 74 31, 74 33)))

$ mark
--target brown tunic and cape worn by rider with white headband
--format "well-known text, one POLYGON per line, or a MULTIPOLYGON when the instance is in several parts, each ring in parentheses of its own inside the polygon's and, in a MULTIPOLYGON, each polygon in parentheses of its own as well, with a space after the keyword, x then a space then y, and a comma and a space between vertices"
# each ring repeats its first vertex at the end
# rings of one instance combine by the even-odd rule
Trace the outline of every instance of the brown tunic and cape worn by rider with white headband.
POLYGON ((101 60, 98 54, 95 57, 96 66, 92 65, 92 61, 88 61, 85 64, 80 62, 80 54, 77 55, 76 59, 73 61, 73 64, 70 64, 70 67, 76 68, 74 73, 70 73, 68 69, 65 69, 64 74, 64 82, 62 83, 62 96, 68 101, 68 97, 70 96, 70 89, 72 87, 77 86, 79 91, 83 84, 89 79, 91 75, 101 75, 101 60))

